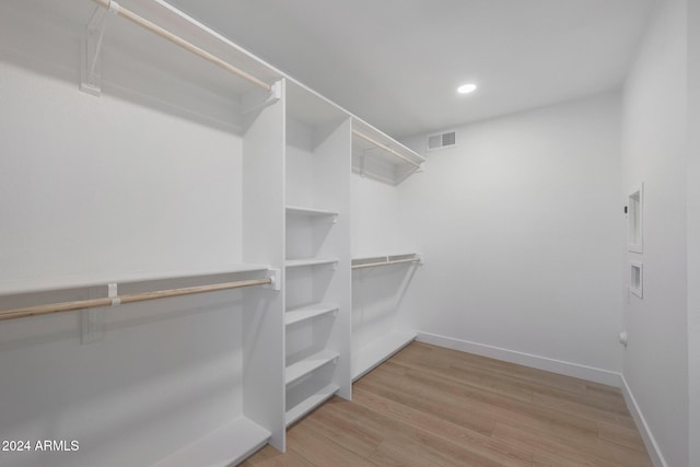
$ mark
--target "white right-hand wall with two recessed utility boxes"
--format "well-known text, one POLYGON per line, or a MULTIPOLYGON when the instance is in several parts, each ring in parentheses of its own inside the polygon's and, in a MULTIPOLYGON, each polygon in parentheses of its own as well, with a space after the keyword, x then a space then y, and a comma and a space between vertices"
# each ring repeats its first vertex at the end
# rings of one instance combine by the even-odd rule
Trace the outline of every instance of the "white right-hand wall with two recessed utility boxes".
POLYGON ((628 255, 643 261, 644 297, 625 306, 623 375, 668 466, 689 465, 686 21, 685 0, 660 2, 622 114, 622 187, 644 182, 645 198, 644 252, 628 255))

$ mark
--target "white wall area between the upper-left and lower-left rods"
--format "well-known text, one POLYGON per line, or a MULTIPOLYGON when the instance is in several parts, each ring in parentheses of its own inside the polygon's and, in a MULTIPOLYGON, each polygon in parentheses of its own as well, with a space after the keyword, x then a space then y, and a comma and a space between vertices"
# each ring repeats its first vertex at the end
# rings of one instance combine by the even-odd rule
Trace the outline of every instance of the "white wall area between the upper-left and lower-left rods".
POLYGON ((241 138, 1 72, 2 290, 240 260, 241 138))

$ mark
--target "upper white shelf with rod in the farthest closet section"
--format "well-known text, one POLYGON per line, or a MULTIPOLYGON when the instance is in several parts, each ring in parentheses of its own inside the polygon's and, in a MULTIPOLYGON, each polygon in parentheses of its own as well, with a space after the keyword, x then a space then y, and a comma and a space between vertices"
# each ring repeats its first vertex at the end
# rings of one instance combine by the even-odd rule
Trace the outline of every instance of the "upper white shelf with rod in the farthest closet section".
POLYGON ((352 171, 398 185, 421 168, 425 160, 368 124, 352 120, 352 171))

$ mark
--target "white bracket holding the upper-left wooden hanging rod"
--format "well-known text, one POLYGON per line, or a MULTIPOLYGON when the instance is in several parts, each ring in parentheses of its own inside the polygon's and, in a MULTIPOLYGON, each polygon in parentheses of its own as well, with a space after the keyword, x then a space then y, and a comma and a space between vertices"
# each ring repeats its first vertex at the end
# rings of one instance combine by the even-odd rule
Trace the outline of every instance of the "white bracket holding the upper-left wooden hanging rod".
POLYGON ((109 8, 95 8, 81 45, 80 91, 100 97, 102 94, 102 39, 105 35, 107 12, 116 14, 119 4, 109 2, 109 8))

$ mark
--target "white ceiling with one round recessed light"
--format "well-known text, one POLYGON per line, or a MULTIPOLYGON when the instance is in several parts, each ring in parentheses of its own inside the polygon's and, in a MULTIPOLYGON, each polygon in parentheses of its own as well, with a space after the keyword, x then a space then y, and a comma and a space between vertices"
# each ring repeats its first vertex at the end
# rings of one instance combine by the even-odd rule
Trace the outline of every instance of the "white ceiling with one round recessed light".
POLYGON ((655 1, 171 2, 402 137, 619 87, 655 1))

